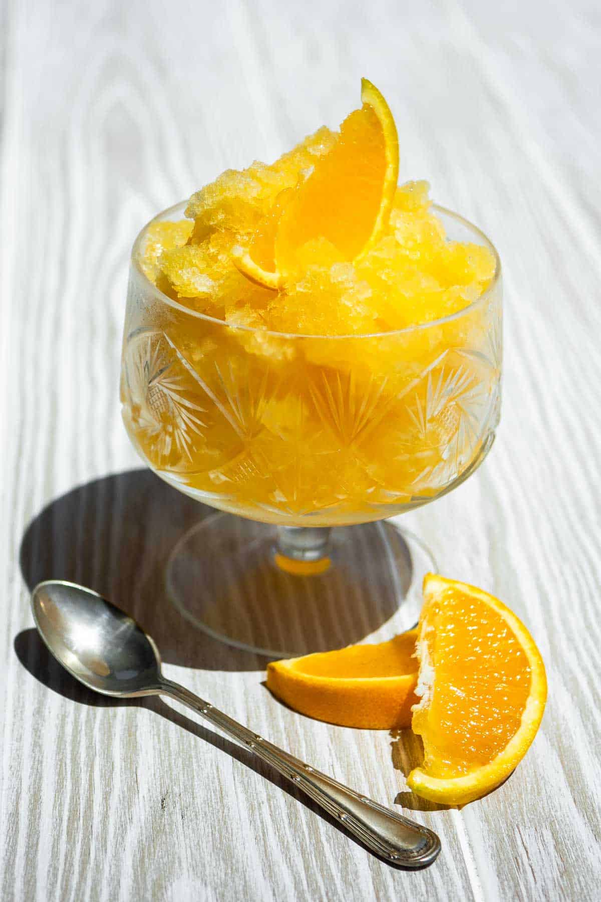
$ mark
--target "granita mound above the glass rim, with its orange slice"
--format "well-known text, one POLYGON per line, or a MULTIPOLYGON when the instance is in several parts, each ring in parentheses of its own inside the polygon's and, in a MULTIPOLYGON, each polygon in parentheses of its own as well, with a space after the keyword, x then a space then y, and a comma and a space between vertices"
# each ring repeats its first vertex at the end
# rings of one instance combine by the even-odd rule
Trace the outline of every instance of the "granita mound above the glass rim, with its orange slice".
POLYGON ((361 97, 339 133, 321 128, 196 192, 193 226, 155 223, 149 278, 226 322, 307 335, 414 326, 477 299, 492 253, 446 239, 426 182, 396 188, 394 119, 366 79, 361 97))

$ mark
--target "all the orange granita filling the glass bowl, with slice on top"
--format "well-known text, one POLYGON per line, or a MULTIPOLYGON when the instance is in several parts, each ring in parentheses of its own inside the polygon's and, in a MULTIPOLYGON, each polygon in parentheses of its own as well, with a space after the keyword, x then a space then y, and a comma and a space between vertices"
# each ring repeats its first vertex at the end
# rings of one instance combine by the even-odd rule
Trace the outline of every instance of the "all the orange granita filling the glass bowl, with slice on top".
POLYGON ((496 254, 425 181, 397 185, 394 119, 366 79, 361 98, 339 131, 226 170, 134 248, 165 301, 124 354, 134 444, 257 520, 405 510, 469 472, 496 426, 496 254))

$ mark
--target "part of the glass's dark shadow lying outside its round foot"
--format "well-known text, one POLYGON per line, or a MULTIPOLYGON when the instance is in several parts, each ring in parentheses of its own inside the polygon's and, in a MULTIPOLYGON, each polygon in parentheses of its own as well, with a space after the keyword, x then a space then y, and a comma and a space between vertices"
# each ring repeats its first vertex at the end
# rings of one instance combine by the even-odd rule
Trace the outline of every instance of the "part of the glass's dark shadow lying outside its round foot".
POLYGON ((105 595, 141 623, 168 664, 262 670, 264 658, 211 639, 168 602, 168 554, 211 513, 148 469, 105 476, 61 495, 32 520, 21 543, 23 578, 30 590, 44 579, 66 579, 105 595))

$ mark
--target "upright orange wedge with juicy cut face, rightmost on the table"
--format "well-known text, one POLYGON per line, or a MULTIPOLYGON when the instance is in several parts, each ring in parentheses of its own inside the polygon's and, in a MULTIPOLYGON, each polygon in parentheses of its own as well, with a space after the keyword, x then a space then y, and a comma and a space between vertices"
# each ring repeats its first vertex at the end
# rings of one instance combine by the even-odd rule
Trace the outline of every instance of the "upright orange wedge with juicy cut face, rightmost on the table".
POLYGON ((407 782, 419 796, 462 805, 524 758, 541 723, 545 669, 524 623, 493 595, 437 575, 423 593, 412 728, 425 758, 407 782))

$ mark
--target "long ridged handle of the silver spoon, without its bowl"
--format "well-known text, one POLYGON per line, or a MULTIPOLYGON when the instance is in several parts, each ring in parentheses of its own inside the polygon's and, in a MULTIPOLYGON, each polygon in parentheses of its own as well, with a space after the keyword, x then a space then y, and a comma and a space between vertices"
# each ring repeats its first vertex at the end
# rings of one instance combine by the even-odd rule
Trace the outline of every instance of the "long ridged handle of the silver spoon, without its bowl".
POLYGON ((202 714, 215 727, 267 761, 382 858, 405 868, 423 868, 431 864, 441 851, 441 842, 432 830, 372 802, 287 751, 278 749, 278 746, 232 720, 184 686, 163 678, 159 692, 202 714))

